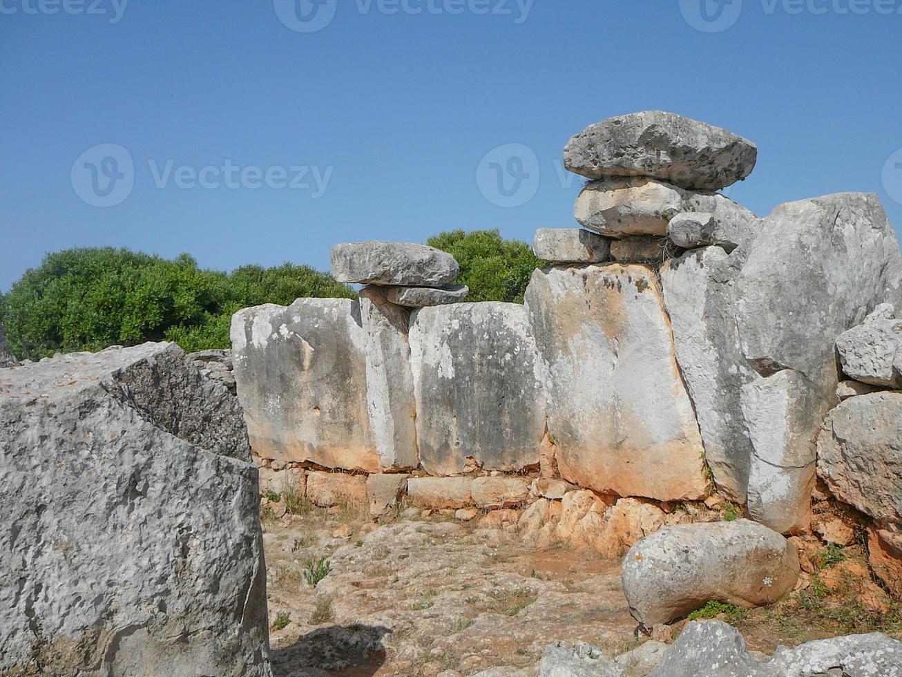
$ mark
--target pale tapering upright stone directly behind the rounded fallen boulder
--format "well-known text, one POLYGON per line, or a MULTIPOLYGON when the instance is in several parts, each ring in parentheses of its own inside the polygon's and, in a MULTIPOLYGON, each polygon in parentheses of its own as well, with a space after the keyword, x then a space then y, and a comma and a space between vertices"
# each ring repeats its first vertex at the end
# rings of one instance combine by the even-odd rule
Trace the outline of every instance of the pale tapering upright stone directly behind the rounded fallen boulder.
POLYGON ((779 533, 801 533, 811 523, 817 433, 830 401, 793 369, 741 388, 751 457, 748 510, 779 533))

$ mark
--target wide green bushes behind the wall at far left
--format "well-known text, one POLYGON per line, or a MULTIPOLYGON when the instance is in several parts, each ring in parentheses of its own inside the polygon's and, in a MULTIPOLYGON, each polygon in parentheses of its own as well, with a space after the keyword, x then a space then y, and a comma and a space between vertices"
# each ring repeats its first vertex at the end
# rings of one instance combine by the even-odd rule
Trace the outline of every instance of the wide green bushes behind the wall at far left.
POLYGON ((229 348, 235 311, 288 305, 302 296, 355 298, 354 290, 306 265, 248 265, 232 274, 127 249, 75 248, 44 257, 0 298, 10 348, 19 358, 99 350, 148 340, 187 352, 229 348))

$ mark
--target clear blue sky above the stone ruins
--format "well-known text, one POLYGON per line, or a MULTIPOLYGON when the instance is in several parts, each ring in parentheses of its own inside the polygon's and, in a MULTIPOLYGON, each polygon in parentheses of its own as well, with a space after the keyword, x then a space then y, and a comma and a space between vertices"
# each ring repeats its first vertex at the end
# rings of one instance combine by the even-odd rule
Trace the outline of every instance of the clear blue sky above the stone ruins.
POLYGON ((866 190, 902 225, 902 0, 330 2, 0 0, 0 290, 67 246, 326 269, 531 241, 575 225, 568 138, 643 109, 757 143, 729 195, 759 214, 866 190))

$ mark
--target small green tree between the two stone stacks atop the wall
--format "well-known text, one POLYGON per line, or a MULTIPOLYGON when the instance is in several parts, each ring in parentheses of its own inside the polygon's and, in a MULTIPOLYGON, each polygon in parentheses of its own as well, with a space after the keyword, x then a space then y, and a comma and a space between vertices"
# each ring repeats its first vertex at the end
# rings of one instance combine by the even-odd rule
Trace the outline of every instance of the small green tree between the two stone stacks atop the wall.
POLYGON ((540 265, 532 247, 505 240, 498 230, 451 230, 429 237, 428 244, 457 259, 457 283, 470 288, 467 301, 522 303, 529 278, 540 265))

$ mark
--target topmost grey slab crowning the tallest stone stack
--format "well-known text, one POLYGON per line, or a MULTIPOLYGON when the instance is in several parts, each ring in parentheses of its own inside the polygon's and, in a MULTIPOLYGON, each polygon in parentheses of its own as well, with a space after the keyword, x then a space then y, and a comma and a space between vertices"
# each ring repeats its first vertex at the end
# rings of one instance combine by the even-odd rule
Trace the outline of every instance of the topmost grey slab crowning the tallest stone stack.
POLYGON ((591 125, 564 149, 566 169, 590 179, 652 176, 700 190, 745 179, 757 160, 758 148, 747 139, 657 110, 591 125))

